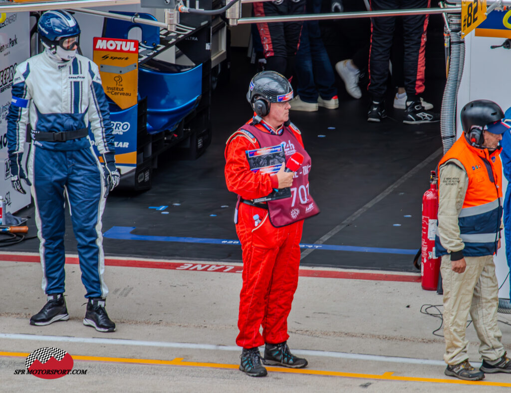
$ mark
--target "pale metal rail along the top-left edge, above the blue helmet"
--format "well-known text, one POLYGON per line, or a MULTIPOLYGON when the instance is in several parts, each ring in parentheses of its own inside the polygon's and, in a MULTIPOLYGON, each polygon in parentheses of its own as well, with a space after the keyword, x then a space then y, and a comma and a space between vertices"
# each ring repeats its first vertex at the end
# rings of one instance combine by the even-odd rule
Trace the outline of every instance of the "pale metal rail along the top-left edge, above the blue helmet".
POLYGON ((140 0, 62 0, 31 3, 0 3, 0 12, 46 11, 74 7, 107 7, 140 4, 140 0))

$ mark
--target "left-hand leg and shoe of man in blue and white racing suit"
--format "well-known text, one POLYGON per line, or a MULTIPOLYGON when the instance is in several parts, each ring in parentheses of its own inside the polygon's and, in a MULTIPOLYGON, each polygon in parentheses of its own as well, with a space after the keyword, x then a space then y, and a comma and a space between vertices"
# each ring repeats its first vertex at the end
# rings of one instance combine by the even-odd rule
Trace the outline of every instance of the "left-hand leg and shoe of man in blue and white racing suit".
POLYGON ((29 179, 35 206, 42 268, 42 290, 47 303, 30 318, 30 324, 49 325, 69 319, 64 300, 64 185, 67 178, 65 152, 45 150, 32 144, 29 179))

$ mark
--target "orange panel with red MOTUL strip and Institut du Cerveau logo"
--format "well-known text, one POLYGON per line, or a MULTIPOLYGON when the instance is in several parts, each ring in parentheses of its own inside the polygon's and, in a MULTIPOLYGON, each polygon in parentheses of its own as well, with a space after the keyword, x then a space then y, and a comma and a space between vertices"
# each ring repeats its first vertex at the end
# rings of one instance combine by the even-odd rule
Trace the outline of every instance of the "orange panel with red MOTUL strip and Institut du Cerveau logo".
POLYGON ((98 65, 106 95, 121 109, 137 103, 138 41, 94 38, 94 62, 98 65))

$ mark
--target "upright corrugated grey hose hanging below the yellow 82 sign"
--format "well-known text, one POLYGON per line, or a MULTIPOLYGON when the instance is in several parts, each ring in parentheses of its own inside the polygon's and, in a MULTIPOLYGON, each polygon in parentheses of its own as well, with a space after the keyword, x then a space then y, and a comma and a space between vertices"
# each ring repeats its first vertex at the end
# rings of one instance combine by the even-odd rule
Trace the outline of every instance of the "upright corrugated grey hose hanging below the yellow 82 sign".
MULTIPOLYGON (((459 24, 457 27, 459 28, 459 24)), ((444 154, 456 141, 456 100, 465 61, 465 41, 461 38, 460 31, 451 31, 450 46, 449 74, 440 112, 440 134, 442 135, 444 154)))

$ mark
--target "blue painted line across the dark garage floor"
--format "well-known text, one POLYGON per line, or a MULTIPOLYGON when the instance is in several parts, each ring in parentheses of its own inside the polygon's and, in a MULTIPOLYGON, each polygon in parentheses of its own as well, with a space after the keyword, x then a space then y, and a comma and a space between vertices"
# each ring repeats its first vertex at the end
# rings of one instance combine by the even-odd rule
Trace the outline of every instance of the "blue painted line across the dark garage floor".
MULTIPOLYGON (((118 240, 145 240, 151 242, 175 242, 175 243, 200 243, 200 244, 228 244, 239 245, 238 240, 209 239, 209 238, 181 238, 176 236, 152 236, 131 233, 134 226, 112 226, 104 234, 104 238, 118 240)), ((353 251, 353 252, 375 252, 379 254, 404 254, 415 255, 417 250, 402 248, 381 248, 381 247, 358 247, 358 246, 336 246, 331 244, 300 244, 300 248, 311 248, 315 250, 329 251, 353 251)))

